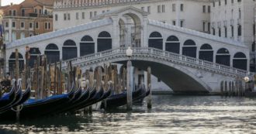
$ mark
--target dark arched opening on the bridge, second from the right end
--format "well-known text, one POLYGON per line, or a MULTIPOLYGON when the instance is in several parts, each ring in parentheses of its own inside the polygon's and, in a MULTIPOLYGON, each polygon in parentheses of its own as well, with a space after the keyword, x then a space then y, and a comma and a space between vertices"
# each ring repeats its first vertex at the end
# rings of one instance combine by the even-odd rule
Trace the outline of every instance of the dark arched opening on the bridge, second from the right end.
POLYGON ((226 48, 221 48, 217 51, 216 64, 230 66, 230 52, 226 48))

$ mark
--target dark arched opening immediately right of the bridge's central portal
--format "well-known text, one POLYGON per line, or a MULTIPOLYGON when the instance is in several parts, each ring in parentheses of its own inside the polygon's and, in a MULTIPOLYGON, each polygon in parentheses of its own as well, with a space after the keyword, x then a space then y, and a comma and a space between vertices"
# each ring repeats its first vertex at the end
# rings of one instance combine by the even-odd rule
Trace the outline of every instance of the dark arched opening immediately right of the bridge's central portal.
POLYGON ((163 38, 161 36, 161 33, 153 32, 150 34, 150 37, 148 39, 148 47, 163 50, 163 38))

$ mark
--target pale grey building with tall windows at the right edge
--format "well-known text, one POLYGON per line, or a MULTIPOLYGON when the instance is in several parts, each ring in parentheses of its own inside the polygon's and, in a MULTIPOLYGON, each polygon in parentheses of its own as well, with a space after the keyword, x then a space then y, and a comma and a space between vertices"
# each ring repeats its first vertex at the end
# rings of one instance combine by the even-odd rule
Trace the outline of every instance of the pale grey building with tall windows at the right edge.
POLYGON ((255 2, 213 0, 211 34, 244 43, 251 50, 251 70, 255 71, 255 2))

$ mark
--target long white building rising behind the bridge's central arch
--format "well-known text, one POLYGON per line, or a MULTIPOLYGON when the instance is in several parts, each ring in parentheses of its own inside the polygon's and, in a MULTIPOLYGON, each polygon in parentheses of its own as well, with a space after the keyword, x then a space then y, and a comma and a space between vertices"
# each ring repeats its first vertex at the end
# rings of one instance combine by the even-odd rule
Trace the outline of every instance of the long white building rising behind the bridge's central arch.
POLYGON ((209 32, 209 0, 54 0, 54 30, 92 21, 96 15, 133 6, 148 18, 209 32))

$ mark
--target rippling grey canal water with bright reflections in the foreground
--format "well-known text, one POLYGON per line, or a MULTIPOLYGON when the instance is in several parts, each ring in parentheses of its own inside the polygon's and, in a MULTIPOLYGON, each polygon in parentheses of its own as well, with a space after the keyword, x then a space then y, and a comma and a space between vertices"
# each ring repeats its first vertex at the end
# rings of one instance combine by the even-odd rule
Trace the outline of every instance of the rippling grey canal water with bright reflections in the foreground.
POLYGON ((0 121, 0 133, 256 133, 256 98, 154 95, 153 102, 151 110, 0 121))

